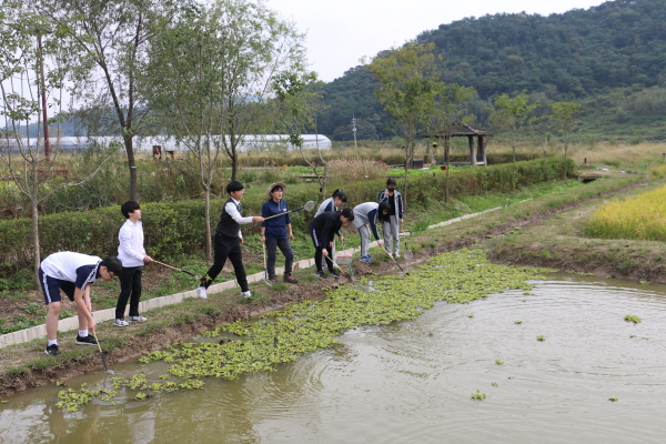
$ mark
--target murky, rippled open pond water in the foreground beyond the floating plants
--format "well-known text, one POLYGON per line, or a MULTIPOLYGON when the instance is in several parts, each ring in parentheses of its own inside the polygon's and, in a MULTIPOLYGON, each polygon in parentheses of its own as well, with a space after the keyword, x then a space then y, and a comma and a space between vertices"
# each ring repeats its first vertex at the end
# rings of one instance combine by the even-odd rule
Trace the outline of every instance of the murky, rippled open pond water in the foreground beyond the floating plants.
MULTIPOLYGON (((666 286, 548 279, 356 329, 276 372, 203 390, 121 391, 117 405, 75 413, 53 406, 61 387, 32 390, 0 405, 0 443, 664 442, 666 286)), ((138 369, 151 382, 165 364, 113 366, 120 377, 138 369)))

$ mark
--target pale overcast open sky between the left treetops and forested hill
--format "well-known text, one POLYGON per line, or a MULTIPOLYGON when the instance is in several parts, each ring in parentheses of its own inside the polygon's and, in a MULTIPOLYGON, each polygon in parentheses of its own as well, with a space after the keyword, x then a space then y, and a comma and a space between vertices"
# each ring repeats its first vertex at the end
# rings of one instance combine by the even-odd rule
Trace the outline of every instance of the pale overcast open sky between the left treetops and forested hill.
POLYGON ((548 16, 587 9, 603 0, 265 0, 266 6, 306 32, 307 59, 330 82, 360 64, 362 57, 403 44, 421 32, 465 17, 498 12, 548 16))

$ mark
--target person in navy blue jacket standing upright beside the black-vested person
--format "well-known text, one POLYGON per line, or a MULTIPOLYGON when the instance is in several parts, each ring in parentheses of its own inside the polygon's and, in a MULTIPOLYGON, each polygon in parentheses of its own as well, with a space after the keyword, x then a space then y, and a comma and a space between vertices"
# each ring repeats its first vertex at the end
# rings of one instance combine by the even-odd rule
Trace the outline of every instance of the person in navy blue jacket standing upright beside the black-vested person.
POLYGON ((266 272, 269 273, 269 280, 278 281, 278 276, 275 276, 275 251, 280 248, 280 251, 284 254, 283 280, 284 282, 295 284, 299 280, 292 275, 294 252, 290 241, 294 240, 294 234, 291 228, 291 218, 289 214, 283 214, 268 219, 289 211, 289 205, 282 200, 285 191, 286 185, 282 182, 276 182, 269 186, 269 192, 266 193, 268 201, 261 208, 261 216, 264 218, 264 221, 261 223, 261 241, 266 245, 266 272))

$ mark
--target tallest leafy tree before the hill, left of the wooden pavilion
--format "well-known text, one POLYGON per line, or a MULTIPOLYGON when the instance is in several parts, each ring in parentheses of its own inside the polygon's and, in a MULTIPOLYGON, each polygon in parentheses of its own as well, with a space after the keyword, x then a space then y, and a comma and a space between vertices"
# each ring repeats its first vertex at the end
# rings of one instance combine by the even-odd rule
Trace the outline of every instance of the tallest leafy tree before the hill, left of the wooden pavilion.
POLYGON ((434 43, 408 42, 380 53, 369 64, 380 81, 380 88, 375 90, 377 100, 405 138, 405 200, 407 169, 414 159, 416 134, 427 117, 434 113, 435 97, 443 85, 436 77, 434 48, 434 43))

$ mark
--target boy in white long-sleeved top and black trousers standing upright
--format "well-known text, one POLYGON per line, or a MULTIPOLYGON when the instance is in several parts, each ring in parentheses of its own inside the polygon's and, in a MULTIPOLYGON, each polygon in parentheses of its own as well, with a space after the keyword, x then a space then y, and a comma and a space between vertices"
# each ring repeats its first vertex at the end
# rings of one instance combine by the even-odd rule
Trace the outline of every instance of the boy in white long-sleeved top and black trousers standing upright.
POLYGON ((152 258, 145 254, 143 248, 143 224, 141 223, 141 208, 134 201, 127 201, 120 208, 125 216, 125 223, 118 232, 118 259, 122 262, 120 272, 120 295, 115 305, 115 326, 127 326, 130 322, 147 321, 139 315, 139 300, 141 299, 141 273, 145 262, 152 258), (130 301, 129 322, 124 320, 124 312, 130 301))

